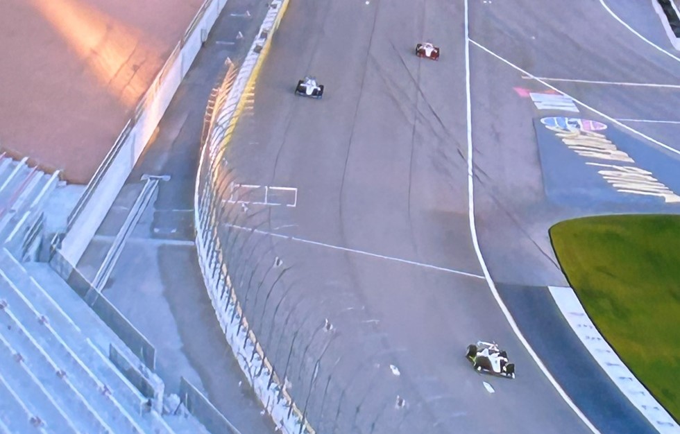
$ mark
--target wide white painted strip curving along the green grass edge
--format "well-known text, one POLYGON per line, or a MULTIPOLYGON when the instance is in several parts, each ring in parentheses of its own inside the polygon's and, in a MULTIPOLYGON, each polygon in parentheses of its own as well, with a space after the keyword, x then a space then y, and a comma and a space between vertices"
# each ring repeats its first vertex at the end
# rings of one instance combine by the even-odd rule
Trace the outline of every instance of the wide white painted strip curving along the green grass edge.
POLYGON ((647 420, 662 434, 680 433, 680 426, 654 399, 645 386, 621 361, 609 343, 602 337, 593 321, 588 318, 579 298, 572 288, 549 286, 557 307, 590 355, 602 367, 611 381, 640 410, 647 420))

